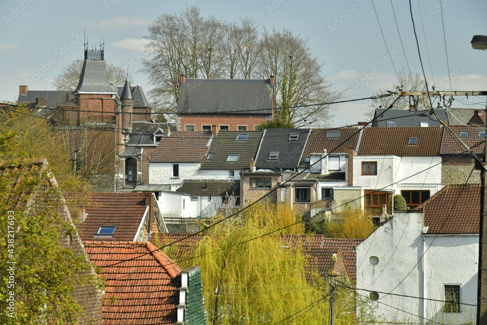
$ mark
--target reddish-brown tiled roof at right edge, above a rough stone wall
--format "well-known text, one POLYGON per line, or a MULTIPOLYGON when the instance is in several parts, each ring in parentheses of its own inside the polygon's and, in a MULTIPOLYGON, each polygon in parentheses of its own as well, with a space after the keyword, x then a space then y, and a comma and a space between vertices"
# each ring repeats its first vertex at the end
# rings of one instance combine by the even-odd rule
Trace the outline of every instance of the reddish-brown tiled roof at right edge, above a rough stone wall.
MULTIPOLYGON (((479 137, 479 131, 486 131, 484 125, 450 125, 450 130, 456 135, 460 135, 460 131, 468 131, 468 137, 460 138, 474 153, 484 153, 485 137, 479 137)), ((443 132, 443 139, 441 141, 441 154, 459 154, 464 153, 465 148, 448 132, 443 132)), ((467 154, 467 153, 464 153, 467 154)))

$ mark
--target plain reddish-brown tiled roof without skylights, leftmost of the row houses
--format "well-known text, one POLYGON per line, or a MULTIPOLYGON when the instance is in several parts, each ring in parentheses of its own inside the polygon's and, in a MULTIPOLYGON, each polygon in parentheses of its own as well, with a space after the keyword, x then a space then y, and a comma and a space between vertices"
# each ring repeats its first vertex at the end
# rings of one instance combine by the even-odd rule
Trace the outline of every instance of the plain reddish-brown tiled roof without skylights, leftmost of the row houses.
POLYGON ((154 152, 150 162, 201 162, 207 152, 211 132, 171 132, 164 136, 154 152))

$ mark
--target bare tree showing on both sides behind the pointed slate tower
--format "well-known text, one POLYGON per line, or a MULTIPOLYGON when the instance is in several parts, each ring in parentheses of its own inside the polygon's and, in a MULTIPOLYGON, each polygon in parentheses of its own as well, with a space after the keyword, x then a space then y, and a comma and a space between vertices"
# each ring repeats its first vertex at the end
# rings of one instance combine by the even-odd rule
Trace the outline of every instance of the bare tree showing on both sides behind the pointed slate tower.
MULTIPOLYGON (((83 68, 83 60, 80 58, 75 59, 70 64, 61 68, 61 73, 54 77, 52 86, 56 90, 75 90, 78 86, 79 76, 83 68)), ((127 79, 127 70, 115 65, 107 65, 108 81, 115 86, 123 86, 127 79)), ((129 74, 129 78, 132 80, 132 76, 129 74)))

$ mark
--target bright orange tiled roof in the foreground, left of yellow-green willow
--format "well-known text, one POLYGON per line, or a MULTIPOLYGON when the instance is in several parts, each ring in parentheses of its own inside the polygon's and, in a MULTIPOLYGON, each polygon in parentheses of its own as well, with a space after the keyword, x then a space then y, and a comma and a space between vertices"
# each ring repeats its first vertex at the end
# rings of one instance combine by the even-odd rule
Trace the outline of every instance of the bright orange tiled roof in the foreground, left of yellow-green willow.
POLYGON ((176 322, 181 282, 174 278, 181 268, 166 254, 145 242, 83 244, 91 262, 103 268, 99 276, 106 279, 102 325, 176 322))

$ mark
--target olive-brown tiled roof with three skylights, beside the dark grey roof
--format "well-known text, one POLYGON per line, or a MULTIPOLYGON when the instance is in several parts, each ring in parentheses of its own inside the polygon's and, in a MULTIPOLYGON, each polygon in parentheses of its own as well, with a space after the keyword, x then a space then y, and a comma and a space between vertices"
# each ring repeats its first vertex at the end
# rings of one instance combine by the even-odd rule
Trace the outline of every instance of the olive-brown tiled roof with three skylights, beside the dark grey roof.
POLYGON ((213 136, 208 154, 213 154, 201 164, 201 169, 249 169, 250 161, 255 159, 263 131, 220 131, 213 136), (248 134, 245 141, 237 140, 238 134, 248 134), (235 162, 226 161, 229 154, 239 154, 235 162))

